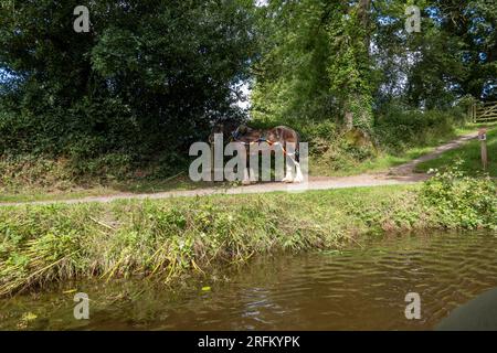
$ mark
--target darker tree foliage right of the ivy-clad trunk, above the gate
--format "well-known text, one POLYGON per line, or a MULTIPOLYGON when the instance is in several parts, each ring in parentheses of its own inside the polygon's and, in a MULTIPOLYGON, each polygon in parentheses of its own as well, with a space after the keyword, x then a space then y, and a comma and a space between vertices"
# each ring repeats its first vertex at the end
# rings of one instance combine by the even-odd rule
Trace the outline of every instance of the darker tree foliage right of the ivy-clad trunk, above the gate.
POLYGON ((491 1, 410 1, 422 11, 421 33, 404 31, 403 1, 376 1, 373 52, 380 68, 376 101, 444 109, 457 97, 495 99, 497 8, 491 1))

